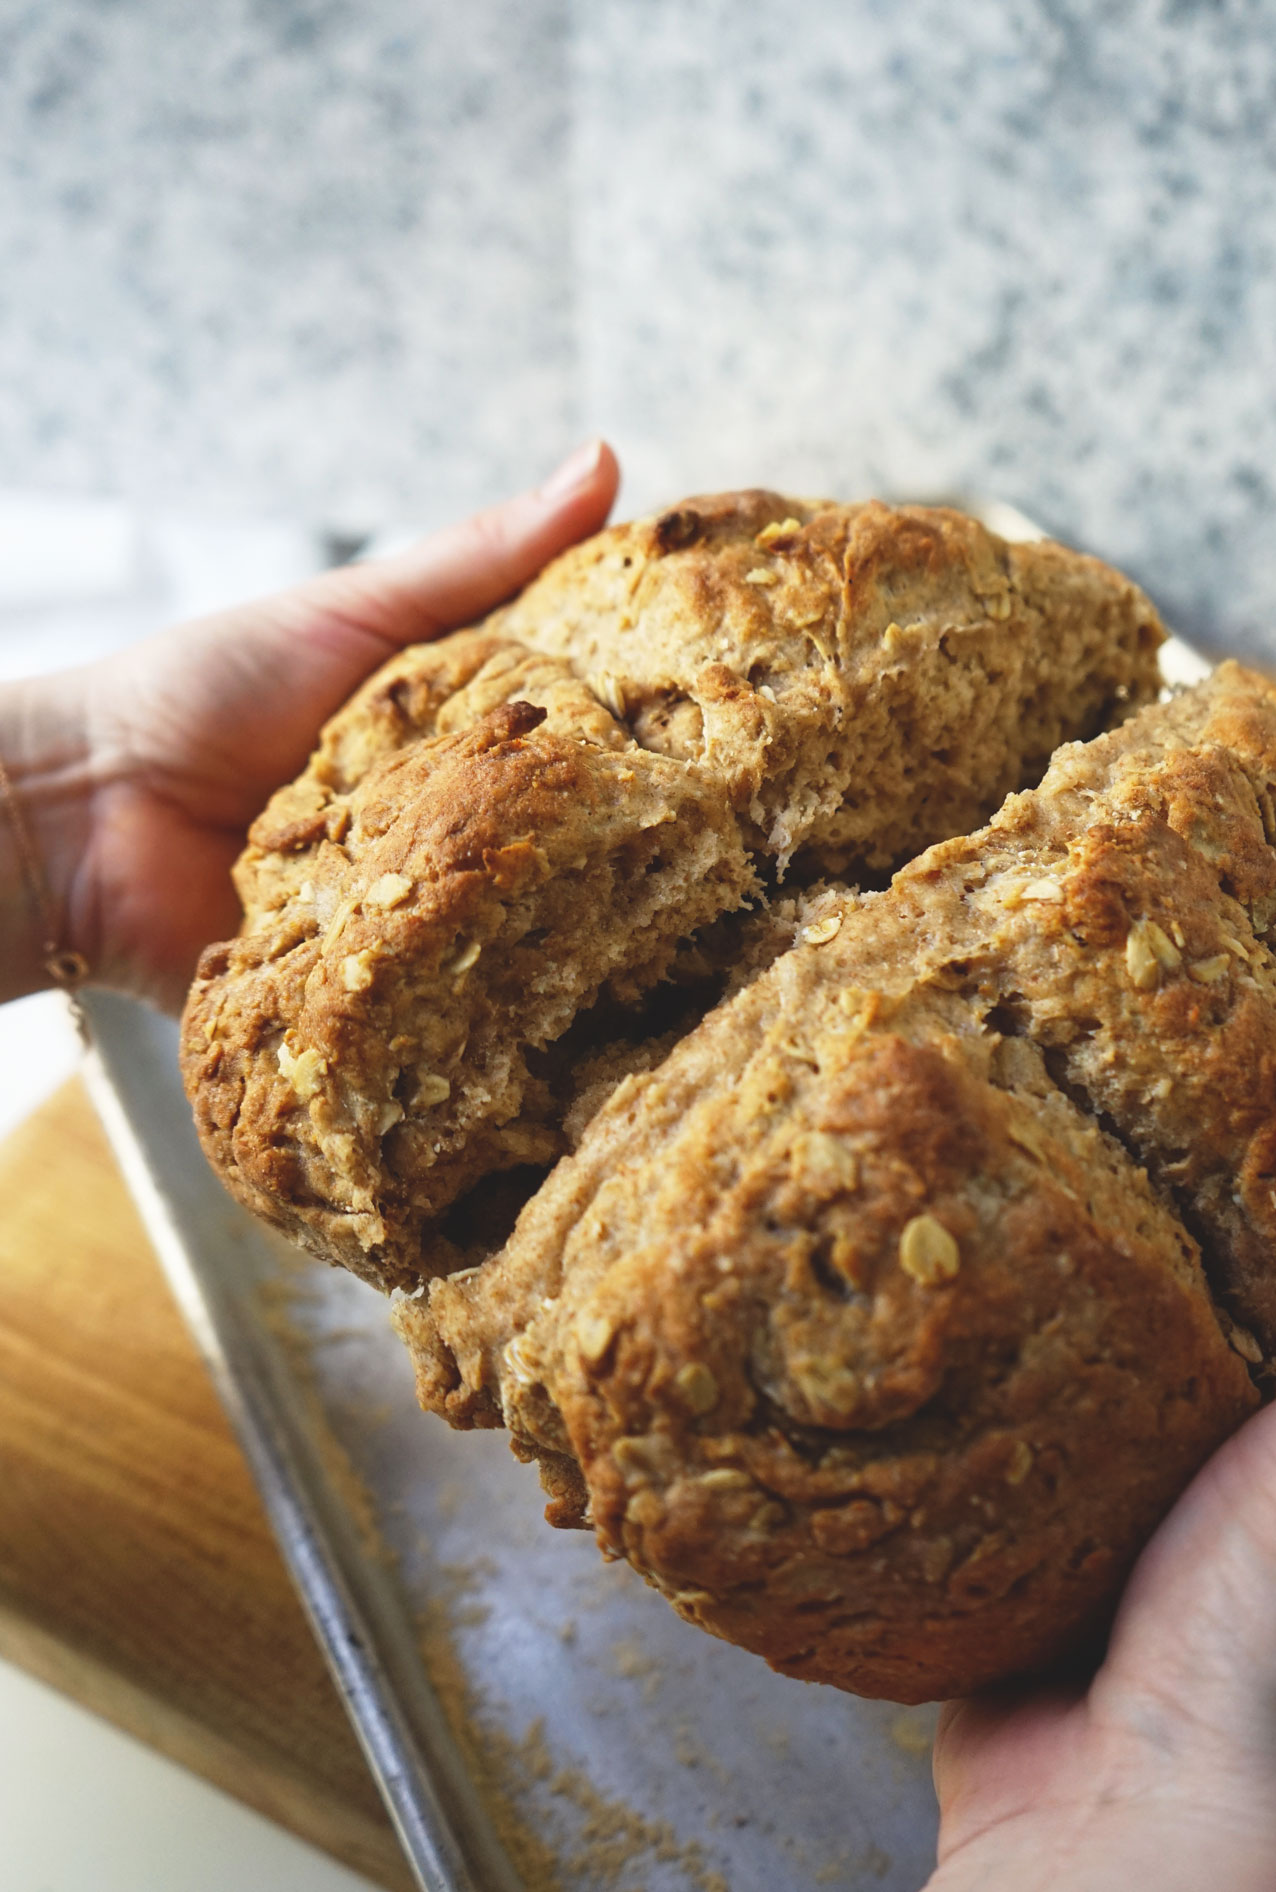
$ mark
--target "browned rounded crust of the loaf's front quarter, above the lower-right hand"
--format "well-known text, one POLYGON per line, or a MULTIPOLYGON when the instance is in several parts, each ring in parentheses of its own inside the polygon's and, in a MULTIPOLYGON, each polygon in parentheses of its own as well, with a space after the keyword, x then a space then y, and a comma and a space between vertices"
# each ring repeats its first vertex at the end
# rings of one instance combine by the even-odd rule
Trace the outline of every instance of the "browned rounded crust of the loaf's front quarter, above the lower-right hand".
MULTIPOLYGON (((1255 1394, 1181 1230, 1066 1103, 1000 1092, 956 1037, 865 1033, 769 1120, 774 1041, 738 1107, 693 1105, 591 1198, 502 1349, 504 1413, 689 1620, 806 1680, 964 1693, 1094 1625, 1255 1394)), ((435 1334, 477 1340, 477 1287, 435 1285, 435 1334)))

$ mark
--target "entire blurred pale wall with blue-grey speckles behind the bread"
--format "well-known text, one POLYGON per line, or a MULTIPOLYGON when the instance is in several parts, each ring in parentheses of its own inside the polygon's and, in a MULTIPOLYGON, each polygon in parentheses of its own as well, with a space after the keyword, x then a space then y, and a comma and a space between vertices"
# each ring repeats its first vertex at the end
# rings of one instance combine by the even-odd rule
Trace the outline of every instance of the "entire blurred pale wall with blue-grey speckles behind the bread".
POLYGON ((439 517, 606 428, 1276 653, 1265 0, 0 0, 0 481, 439 517))

